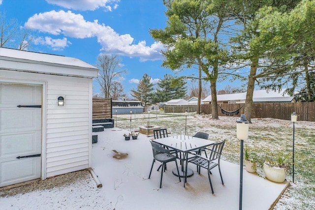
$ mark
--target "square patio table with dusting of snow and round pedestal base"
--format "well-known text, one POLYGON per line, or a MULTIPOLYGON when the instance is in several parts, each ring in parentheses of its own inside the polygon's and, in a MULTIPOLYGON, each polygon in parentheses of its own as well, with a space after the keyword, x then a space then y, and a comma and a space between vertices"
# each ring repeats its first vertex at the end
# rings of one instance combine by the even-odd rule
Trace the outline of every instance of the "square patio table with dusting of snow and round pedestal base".
POLYGON ((166 138, 155 139, 152 141, 160 145, 163 145, 167 148, 183 153, 183 157, 180 158, 181 163, 182 163, 182 170, 180 171, 180 174, 179 175, 177 174, 176 169, 173 170, 172 172, 175 176, 180 176, 184 178, 184 187, 185 187, 185 182, 187 181, 187 177, 191 177, 193 175, 193 171, 191 169, 184 168, 184 161, 187 161, 188 159, 188 152, 193 151, 193 150, 199 150, 201 148, 204 148, 204 147, 207 147, 216 143, 214 141, 196 138, 196 137, 187 136, 187 135, 170 136, 166 138), (186 171, 187 173, 185 173, 186 171))

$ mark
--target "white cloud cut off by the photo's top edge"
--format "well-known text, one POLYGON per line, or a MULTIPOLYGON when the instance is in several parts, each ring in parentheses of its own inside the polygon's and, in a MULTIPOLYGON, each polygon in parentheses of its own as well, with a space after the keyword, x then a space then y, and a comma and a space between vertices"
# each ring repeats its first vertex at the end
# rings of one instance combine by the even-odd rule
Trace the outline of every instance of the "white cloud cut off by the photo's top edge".
POLYGON ((118 7, 119 0, 46 0, 50 4, 55 4, 67 9, 75 10, 95 10, 99 7, 105 11, 112 11, 118 7))

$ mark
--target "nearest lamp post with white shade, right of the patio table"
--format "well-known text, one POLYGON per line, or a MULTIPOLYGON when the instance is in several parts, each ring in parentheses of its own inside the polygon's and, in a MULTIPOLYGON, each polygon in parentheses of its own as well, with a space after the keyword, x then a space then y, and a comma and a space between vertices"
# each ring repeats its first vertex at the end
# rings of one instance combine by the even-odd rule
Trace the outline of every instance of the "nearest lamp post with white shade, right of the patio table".
POLYGON ((248 130, 249 130, 249 121, 246 119, 244 114, 241 115, 241 118, 236 120, 236 137, 238 140, 241 140, 241 157, 240 157, 240 199, 239 199, 239 210, 242 210, 242 196, 243 196, 243 140, 248 139, 248 130))

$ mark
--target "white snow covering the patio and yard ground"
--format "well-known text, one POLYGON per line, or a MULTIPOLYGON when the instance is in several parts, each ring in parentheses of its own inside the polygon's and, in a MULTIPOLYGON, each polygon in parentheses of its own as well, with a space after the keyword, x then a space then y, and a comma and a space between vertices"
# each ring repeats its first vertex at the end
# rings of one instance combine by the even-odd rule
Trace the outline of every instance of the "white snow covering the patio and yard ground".
MULTIPOLYGON (((237 118, 221 117, 220 120, 209 120, 209 116, 194 117, 189 116, 187 122, 187 132, 192 135, 196 131, 204 131, 210 134, 210 138, 227 139, 229 145, 226 150, 234 151, 233 145, 238 145, 235 140, 236 120, 237 118), (194 121, 194 122, 193 122, 194 121), (197 121, 197 122, 196 122, 197 121)), ((140 121, 140 120, 139 120, 140 121)), ((249 142, 254 145, 266 144, 267 140, 276 139, 274 135, 284 138, 292 138, 292 124, 289 120, 277 119, 253 119, 250 125, 249 142), (288 130, 283 130, 283 127, 288 130), (259 138, 266 136, 265 127, 273 127, 273 135, 269 139, 259 141, 259 138), (258 130, 258 132, 257 132, 258 130), (251 132, 252 131, 252 132, 251 132), (256 131, 256 132, 254 132, 256 131), (254 140, 257 133, 258 141, 254 140)), ((132 121, 132 128, 137 127, 138 121, 132 121)), ((150 119, 150 123, 157 123, 150 119)), ((165 119, 165 127, 171 131, 171 135, 183 134, 185 120, 165 119), (169 124, 167 124, 169 123, 169 124)), ((119 122, 123 125, 123 122, 119 122)), ((128 129, 129 121, 124 122, 125 129, 128 129)), ((139 122, 142 123, 143 122, 139 122)), ((296 128, 313 130, 315 122, 298 122, 296 128)), ((172 175, 171 169, 175 166, 172 163, 167 165, 169 170, 163 174, 162 188, 159 189, 160 173, 157 172, 158 163, 155 163, 151 179, 148 179, 152 164, 152 150, 148 138, 140 135, 138 140, 123 140, 123 134, 127 130, 119 128, 105 129, 98 134, 98 143, 93 144, 93 170, 103 187, 97 188, 95 180, 89 174, 77 175, 78 179, 70 181, 68 184, 58 185, 47 189, 22 192, 13 196, 0 197, 1 210, 157 210, 157 209, 216 209, 232 210, 238 209, 239 201, 239 166, 222 161, 222 175, 224 185, 221 184, 218 169, 214 169, 212 180, 214 184, 215 195, 211 194, 210 184, 205 171, 201 175, 196 173, 194 166, 194 175, 188 179, 187 186, 183 187, 183 180, 179 182, 178 178, 172 175), (113 158, 115 154, 112 150, 128 153, 126 159, 117 160, 113 158)), ((300 135, 297 133, 297 135, 300 135)), ((237 150, 237 149, 236 149, 237 150)), ((239 152, 239 150, 238 150, 239 152)), ((77 173, 86 173, 77 172, 77 173)), ((72 173, 70 173, 72 174, 72 173)), ((67 175, 64 175, 67 176, 67 175)), ((54 181, 58 177, 44 180, 54 181)), ((273 201, 281 194, 284 189, 283 184, 275 184, 264 180, 262 177, 247 173, 244 171, 243 179, 243 209, 246 210, 266 210, 273 201)), ((306 185, 298 181, 293 184, 291 191, 295 188, 306 185)), ((313 184, 309 186, 314 187, 313 184)), ((21 189, 21 188, 16 188, 21 189)), ((14 190, 14 189, 13 189, 14 190)), ((289 190, 289 191, 290 191, 289 190)), ((0 192, 0 195, 2 193, 0 192)), ((276 209, 294 209, 294 204, 299 195, 285 193, 280 200, 280 205, 276 209), (295 197, 294 197, 295 196, 295 197)), ((302 197, 303 199, 303 197, 302 197)), ((299 203, 301 201, 297 201, 299 203)), ((303 200, 302 200, 303 202, 303 200)), ((305 200, 304 202, 312 202, 305 200)), ((314 202, 314 201, 313 201, 314 202)), ((312 204, 311 204, 312 205, 312 204)), ((315 207, 315 206, 314 206, 315 207)), ((301 208, 303 209, 303 208, 301 208)))

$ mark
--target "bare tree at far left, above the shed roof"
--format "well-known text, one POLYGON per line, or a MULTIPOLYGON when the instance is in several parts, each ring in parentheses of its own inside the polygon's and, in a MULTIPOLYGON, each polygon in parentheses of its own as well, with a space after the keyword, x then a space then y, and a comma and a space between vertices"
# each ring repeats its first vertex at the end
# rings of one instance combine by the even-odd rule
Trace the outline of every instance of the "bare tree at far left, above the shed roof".
POLYGON ((27 50, 33 39, 28 27, 20 27, 15 19, 6 20, 0 12, 0 47, 27 50))

